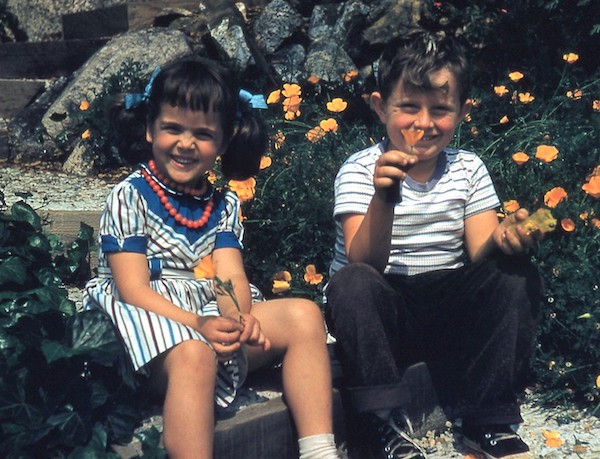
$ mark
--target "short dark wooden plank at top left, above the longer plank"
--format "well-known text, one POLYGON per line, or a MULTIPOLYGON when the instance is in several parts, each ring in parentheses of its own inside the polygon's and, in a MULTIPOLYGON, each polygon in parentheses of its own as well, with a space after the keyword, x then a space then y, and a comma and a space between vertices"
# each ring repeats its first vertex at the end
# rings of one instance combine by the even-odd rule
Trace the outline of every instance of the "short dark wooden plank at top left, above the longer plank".
POLYGON ((65 14, 62 16, 62 26, 65 40, 111 37, 127 32, 129 28, 127 5, 65 14))

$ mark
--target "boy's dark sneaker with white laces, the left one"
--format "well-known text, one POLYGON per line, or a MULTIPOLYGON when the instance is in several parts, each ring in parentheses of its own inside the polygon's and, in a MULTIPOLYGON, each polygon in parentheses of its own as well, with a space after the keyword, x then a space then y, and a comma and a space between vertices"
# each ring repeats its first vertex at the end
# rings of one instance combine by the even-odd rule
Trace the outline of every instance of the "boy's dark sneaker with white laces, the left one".
POLYGON ((425 450, 411 437, 412 425, 406 415, 394 413, 387 421, 375 414, 363 416, 362 437, 366 443, 362 446, 370 459, 427 459, 425 450))

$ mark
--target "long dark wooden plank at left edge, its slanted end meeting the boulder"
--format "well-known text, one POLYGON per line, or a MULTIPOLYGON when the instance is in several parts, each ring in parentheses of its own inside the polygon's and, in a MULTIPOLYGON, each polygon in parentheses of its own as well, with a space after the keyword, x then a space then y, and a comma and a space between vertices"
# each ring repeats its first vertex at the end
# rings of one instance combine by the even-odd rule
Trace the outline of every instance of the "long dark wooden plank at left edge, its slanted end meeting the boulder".
POLYGON ((44 79, 71 75, 108 38, 0 44, 0 78, 44 79))

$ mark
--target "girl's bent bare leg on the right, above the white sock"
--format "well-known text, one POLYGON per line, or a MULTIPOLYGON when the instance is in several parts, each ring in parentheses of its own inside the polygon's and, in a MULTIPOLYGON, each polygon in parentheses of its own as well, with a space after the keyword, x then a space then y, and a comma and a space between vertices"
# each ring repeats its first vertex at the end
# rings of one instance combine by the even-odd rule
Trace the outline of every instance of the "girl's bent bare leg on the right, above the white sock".
POLYGON ((248 346, 250 370, 283 357, 283 386, 298 436, 332 433, 331 367, 323 316, 316 304, 302 299, 256 303, 271 350, 248 346))

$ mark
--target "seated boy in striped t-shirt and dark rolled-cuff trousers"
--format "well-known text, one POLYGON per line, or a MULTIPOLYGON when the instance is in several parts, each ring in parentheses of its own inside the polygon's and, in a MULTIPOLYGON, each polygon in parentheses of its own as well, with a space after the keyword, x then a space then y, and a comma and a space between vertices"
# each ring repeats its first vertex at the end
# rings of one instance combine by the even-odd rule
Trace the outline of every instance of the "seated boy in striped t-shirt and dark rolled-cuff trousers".
POLYGON ((359 456, 425 458, 409 436, 402 381, 428 364, 437 394, 487 458, 532 457, 510 428, 542 299, 515 256, 537 235, 498 222, 499 200, 475 154, 449 148, 471 102, 465 50, 414 32, 390 43, 371 105, 387 139, 352 155, 335 181, 337 238, 326 290, 359 456), (406 138, 405 138, 406 137, 406 138))

